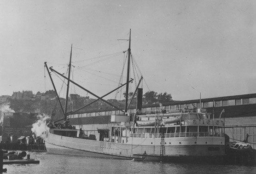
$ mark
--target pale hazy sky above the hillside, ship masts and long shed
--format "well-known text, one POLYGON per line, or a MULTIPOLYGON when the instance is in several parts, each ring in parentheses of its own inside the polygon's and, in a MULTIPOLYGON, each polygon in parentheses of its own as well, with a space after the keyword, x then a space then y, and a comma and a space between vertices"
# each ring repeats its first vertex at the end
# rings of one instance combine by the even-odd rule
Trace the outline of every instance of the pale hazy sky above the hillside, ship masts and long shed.
POLYGON ((118 39, 129 29, 144 93, 256 93, 254 0, 1 0, 0 26, 0 95, 53 89, 44 62, 66 73, 71 44, 72 79, 104 95, 117 87, 124 55, 99 57, 126 51, 128 41, 118 39))

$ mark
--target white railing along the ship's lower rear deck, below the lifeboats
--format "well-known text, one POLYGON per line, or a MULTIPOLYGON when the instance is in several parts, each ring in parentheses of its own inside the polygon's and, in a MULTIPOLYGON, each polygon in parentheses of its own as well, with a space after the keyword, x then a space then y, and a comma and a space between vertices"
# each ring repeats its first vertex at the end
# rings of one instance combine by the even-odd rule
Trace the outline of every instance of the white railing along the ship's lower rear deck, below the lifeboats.
MULTIPOLYGON (((224 133, 209 132, 188 132, 188 133, 164 133, 166 138, 172 137, 224 137, 224 133)), ((130 137, 134 138, 160 138, 161 133, 131 133, 130 137)))

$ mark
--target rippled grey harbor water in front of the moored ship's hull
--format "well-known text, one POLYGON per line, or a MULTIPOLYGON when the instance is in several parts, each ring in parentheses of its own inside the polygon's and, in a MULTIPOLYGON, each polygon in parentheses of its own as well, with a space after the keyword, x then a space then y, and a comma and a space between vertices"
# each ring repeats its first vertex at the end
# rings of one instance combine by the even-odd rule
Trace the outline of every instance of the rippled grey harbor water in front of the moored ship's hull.
POLYGON ((30 152, 40 164, 4 165, 7 174, 253 174, 256 166, 163 163, 30 152))

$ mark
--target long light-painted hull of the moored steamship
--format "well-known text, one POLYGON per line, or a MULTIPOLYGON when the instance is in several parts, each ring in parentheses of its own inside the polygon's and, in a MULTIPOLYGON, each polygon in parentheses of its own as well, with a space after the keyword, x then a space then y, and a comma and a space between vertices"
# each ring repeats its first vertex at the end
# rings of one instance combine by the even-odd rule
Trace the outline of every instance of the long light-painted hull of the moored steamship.
MULTIPOLYGON (((145 159, 157 161, 160 157, 161 138, 129 137, 127 143, 113 143, 60 136, 47 132, 48 153, 118 159, 145 159)), ((223 137, 172 137, 165 138, 163 161, 177 157, 187 159, 223 157, 223 137), (207 144, 206 144, 207 142, 207 144), (164 160, 166 159, 166 160, 164 160)))

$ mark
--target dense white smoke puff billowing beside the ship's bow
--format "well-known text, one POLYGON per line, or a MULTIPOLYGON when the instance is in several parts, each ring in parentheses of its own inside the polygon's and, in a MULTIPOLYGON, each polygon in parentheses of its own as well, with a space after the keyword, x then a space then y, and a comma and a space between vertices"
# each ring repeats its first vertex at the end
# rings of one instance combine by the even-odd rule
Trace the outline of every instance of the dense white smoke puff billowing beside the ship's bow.
POLYGON ((47 120, 50 119, 50 116, 41 114, 38 115, 37 118, 38 120, 32 124, 33 128, 31 128, 31 131, 38 137, 41 136, 41 134, 46 130, 47 120))

